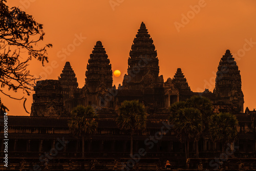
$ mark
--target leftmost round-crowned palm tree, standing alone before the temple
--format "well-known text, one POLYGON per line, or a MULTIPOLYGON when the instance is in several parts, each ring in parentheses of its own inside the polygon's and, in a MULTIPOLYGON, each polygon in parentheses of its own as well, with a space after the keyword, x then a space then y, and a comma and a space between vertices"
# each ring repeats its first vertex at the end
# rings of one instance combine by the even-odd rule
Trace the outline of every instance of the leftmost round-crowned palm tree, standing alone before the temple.
POLYGON ((70 131, 82 137, 82 157, 84 158, 84 136, 88 138, 96 133, 98 122, 96 121, 97 115, 94 112, 92 106, 84 107, 83 105, 78 105, 71 112, 71 120, 69 121, 70 131))

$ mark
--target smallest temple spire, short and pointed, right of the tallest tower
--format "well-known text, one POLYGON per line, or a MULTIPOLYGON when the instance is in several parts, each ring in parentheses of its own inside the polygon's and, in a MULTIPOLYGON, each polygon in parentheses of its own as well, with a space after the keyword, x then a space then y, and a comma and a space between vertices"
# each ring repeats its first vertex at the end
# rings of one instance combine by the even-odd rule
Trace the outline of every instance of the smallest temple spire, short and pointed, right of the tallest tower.
POLYGON ((177 72, 174 75, 173 78, 174 87, 179 90, 186 90, 191 91, 190 87, 188 86, 187 79, 183 75, 180 68, 177 69, 177 72))

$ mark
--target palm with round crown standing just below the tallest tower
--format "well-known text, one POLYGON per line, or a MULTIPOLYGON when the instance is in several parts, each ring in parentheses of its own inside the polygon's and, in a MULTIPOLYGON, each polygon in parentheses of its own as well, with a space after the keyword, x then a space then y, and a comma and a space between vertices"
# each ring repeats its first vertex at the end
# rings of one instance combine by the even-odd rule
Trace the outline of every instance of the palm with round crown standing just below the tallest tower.
POLYGON ((116 119, 120 130, 130 131, 131 153, 133 156, 133 136, 146 128, 146 110, 139 100, 123 101, 119 107, 119 114, 116 119))

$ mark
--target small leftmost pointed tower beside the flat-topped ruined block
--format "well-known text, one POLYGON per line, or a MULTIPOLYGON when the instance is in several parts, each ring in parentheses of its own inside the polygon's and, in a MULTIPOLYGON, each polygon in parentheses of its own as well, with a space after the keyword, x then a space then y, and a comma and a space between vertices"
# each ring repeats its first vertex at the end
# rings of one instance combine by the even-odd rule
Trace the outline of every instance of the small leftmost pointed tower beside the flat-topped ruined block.
POLYGON ((76 74, 71 68, 70 62, 66 62, 65 66, 58 77, 60 86, 62 87, 63 103, 65 109, 71 112, 72 109, 77 106, 77 96, 78 96, 78 83, 76 79, 76 74))

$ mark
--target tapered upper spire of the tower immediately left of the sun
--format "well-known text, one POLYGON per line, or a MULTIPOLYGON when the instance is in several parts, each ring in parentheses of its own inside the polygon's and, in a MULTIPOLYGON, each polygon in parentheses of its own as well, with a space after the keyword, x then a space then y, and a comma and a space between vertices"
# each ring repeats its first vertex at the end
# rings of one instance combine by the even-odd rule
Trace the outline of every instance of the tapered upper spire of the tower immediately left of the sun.
POLYGON ((89 92, 97 92, 101 88, 112 88, 113 78, 110 59, 101 41, 97 41, 88 60, 86 71, 86 87, 89 92))

